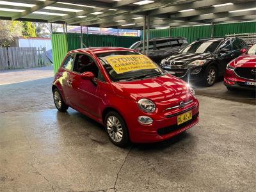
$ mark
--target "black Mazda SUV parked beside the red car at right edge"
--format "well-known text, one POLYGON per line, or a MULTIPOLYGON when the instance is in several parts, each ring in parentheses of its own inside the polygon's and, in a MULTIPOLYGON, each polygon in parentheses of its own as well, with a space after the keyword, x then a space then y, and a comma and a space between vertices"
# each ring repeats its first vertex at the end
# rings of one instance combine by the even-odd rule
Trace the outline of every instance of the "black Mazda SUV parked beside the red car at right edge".
POLYGON ((178 54, 161 61, 161 67, 185 81, 202 81, 212 86, 225 74, 229 61, 246 52, 247 45, 239 38, 196 40, 178 54))

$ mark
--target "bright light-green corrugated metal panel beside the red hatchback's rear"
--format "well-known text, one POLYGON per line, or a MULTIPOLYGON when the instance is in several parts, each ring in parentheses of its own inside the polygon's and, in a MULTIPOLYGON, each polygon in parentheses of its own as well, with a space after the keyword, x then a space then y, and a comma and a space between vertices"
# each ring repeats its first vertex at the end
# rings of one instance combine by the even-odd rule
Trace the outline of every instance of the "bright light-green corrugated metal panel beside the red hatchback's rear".
POLYGON ((67 35, 52 34, 52 58, 54 63, 53 64, 54 74, 56 74, 67 52, 68 52, 67 35))

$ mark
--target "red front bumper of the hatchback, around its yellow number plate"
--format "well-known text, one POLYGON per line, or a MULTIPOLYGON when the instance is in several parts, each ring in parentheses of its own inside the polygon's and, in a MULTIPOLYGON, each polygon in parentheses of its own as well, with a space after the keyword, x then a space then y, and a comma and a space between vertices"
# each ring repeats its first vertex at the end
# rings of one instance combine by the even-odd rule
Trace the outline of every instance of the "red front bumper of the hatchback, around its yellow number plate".
MULTIPOLYGON (((131 141, 134 143, 153 143, 157 141, 168 140, 173 136, 184 132, 187 129, 193 127, 193 125, 198 123, 199 120, 199 102, 196 99, 193 105, 184 108, 184 110, 179 111, 179 113, 174 113, 173 115, 164 116, 162 118, 153 118, 154 122, 151 125, 141 125, 138 121, 127 122, 129 127, 129 133, 131 141), (186 111, 192 111, 192 119, 183 124, 177 125, 177 116, 186 113, 186 111)), ((131 118, 130 118, 131 119, 131 118)), ((137 118, 136 118, 137 119, 137 118)))

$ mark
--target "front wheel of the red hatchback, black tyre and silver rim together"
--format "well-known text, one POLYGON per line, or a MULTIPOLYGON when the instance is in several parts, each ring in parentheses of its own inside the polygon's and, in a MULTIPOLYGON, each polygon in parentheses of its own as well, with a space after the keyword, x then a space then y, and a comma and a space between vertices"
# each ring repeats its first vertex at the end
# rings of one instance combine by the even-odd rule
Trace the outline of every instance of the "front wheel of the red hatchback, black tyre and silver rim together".
POLYGON ((118 147, 129 144, 129 132, 122 116, 115 111, 110 111, 105 118, 104 125, 109 140, 118 147))

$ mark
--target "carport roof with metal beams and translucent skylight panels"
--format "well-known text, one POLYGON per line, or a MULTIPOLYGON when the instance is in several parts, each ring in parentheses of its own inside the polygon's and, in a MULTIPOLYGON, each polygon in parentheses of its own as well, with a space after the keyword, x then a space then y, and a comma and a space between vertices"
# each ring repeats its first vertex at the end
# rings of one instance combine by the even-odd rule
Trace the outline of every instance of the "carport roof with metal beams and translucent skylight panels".
POLYGON ((101 28, 195 26, 255 20, 255 0, 11 0, 0 1, 0 19, 67 23, 101 28))

